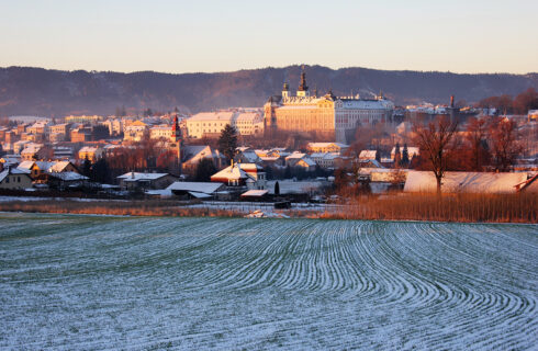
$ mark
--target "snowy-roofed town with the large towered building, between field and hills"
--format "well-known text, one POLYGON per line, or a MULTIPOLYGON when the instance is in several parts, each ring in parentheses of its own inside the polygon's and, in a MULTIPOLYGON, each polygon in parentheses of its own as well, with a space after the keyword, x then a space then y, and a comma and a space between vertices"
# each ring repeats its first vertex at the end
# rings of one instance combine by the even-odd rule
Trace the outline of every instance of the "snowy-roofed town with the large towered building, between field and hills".
POLYGON ((445 170, 445 192, 536 191, 538 110, 522 115, 490 106, 457 107, 453 97, 446 105, 394 106, 382 94, 318 95, 310 92, 303 72, 296 97, 284 83, 282 94, 271 97, 264 109, 194 115, 147 109, 127 115, 122 107, 108 117, 4 118, 0 193, 291 204, 434 192, 436 179, 428 171, 427 150, 416 145, 416 125, 439 117, 457 125, 459 143, 459 156, 445 170), (318 125, 309 125, 311 121, 318 125), (479 146, 487 155, 470 166, 464 155, 479 122, 479 146), (516 136, 517 155, 502 165, 486 136, 485 125, 494 122, 513 126, 516 136), (323 134, 317 133, 321 127, 323 134))

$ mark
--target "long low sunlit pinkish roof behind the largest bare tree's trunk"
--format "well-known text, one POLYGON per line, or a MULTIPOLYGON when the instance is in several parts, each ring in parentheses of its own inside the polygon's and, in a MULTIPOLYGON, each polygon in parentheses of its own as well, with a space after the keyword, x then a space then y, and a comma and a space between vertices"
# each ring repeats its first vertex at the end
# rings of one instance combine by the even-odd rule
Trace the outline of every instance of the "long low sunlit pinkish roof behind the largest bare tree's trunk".
MULTIPOLYGON (((446 172, 444 193, 514 194, 527 181, 527 173, 446 172)), ((437 192, 437 180, 431 171, 408 171, 404 192, 437 192)))

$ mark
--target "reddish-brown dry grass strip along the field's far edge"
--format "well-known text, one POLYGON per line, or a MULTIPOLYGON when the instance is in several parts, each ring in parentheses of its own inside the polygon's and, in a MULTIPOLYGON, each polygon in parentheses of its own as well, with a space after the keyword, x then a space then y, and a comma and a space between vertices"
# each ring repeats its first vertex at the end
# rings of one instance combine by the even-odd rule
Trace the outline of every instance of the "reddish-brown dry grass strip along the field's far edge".
MULTIPOLYGON (((340 212, 285 212, 298 218, 435 220, 462 223, 538 223, 534 194, 400 194, 352 199, 340 212)), ((3 212, 70 213, 130 216, 242 217, 239 210, 184 207, 175 201, 13 201, 0 203, 3 212)))

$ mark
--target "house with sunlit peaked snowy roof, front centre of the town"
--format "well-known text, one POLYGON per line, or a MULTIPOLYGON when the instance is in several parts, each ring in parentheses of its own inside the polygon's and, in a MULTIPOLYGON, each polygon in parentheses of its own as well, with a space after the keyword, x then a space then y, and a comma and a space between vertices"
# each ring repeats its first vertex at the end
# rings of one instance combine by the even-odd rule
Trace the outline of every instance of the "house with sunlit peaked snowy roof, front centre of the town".
POLYGON ((262 190, 266 188, 266 172, 256 163, 234 163, 211 176, 212 182, 228 186, 247 186, 262 190))

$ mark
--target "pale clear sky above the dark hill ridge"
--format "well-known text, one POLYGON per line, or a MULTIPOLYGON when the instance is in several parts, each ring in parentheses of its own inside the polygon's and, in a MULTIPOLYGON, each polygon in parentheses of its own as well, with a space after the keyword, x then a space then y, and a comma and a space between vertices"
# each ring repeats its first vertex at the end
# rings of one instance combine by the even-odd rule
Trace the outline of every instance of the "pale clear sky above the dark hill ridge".
POLYGON ((538 71, 536 0, 0 0, 0 67, 538 71))

